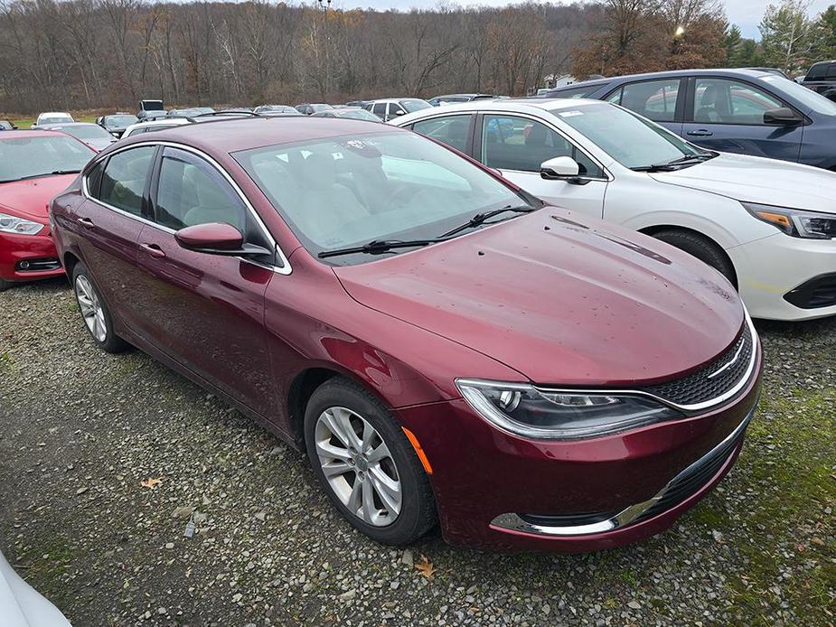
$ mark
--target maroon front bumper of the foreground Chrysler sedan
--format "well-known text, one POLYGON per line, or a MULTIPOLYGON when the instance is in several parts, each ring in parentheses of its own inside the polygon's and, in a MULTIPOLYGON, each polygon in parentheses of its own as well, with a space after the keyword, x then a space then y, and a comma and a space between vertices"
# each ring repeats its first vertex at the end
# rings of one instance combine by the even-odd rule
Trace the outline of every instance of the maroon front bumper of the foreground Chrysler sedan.
POLYGON ((572 442, 506 434, 462 399, 399 410, 433 473, 447 541, 577 553, 652 536, 734 464, 754 413, 756 376, 700 416, 572 442))

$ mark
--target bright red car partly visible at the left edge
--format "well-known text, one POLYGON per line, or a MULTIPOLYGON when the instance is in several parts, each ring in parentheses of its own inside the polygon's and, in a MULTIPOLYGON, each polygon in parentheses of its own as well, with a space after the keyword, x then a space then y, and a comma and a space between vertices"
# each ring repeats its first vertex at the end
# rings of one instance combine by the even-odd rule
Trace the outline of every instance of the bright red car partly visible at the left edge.
POLYGON ((63 133, 0 133, 0 291, 64 274, 47 206, 95 151, 63 133))

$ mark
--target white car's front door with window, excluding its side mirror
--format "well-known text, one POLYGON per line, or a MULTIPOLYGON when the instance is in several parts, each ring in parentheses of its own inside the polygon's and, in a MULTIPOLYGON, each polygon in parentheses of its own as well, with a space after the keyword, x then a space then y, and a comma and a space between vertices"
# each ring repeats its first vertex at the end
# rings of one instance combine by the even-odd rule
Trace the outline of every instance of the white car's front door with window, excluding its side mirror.
POLYGON ((484 113, 480 117, 474 141, 474 155, 479 161, 543 201, 603 217, 607 176, 588 154, 533 117, 506 113, 484 113), (582 184, 540 177, 540 164, 558 156, 578 162, 582 184))

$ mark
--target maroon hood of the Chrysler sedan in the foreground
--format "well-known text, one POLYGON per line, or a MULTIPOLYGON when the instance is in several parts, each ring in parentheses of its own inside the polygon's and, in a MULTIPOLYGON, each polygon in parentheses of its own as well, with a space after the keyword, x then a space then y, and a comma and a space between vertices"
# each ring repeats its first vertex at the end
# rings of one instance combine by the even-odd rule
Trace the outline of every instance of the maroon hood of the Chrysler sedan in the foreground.
POLYGON ((693 257, 551 207, 334 273, 359 303, 540 384, 670 379, 728 349, 745 318, 693 257))

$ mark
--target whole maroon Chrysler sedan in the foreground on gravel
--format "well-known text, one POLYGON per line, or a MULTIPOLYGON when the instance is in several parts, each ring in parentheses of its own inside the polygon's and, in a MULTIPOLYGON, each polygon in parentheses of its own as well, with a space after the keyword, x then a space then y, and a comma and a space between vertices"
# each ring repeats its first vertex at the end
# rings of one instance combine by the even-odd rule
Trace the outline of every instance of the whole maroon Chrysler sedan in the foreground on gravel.
POLYGON ((207 124, 52 203, 84 322, 306 450, 363 533, 614 547, 734 463, 761 349, 713 269, 403 129, 207 124))

